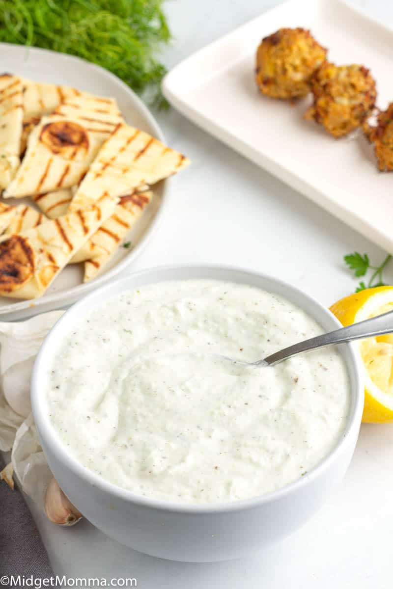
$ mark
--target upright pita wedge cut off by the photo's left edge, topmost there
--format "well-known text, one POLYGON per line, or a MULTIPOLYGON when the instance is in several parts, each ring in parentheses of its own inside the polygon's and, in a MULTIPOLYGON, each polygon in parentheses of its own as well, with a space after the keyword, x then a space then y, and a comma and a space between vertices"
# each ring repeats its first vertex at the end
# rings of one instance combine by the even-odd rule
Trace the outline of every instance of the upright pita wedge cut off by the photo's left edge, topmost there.
POLYGON ((6 188, 19 167, 23 104, 21 79, 0 75, 0 188, 6 188))

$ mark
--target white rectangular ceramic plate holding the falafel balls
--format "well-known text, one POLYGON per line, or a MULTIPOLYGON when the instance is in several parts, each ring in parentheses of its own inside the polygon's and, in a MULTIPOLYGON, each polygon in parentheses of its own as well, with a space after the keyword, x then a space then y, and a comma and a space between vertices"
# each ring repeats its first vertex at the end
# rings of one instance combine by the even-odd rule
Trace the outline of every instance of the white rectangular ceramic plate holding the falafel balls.
MULTIPOLYGON (((177 65, 163 82, 184 115, 393 253, 393 173, 379 173, 361 134, 335 140, 254 80, 260 40, 280 27, 310 28, 338 64, 371 69, 378 105, 393 101, 393 31, 340 0, 290 0, 177 65)), ((263 220, 261 220, 263 222, 263 220)))

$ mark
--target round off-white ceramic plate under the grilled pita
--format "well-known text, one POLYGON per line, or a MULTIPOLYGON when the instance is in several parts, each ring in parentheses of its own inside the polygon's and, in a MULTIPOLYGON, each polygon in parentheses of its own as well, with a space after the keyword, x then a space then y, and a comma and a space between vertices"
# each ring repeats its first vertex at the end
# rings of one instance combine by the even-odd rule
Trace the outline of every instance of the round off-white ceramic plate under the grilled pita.
MULTIPOLYGON (((163 141, 163 134, 143 102, 124 82, 98 65, 70 55, 45 49, 25 48, 19 45, 0 43, 0 72, 12 72, 39 82, 54 82, 74 86, 93 94, 114 97, 127 123, 134 125, 163 141)), ((156 229, 163 210, 168 181, 154 187, 153 201, 147 207, 142 219, 130 231, 124 241, 131 241, 131 247, 119 247, 103 274, 86 284, 82 283, 82 265, 70 264, 65 267, 49 287, 44 296, 34 301, 18 301, 0 297, 2 320, 21 319, 51 309, 70 305, 83 294, 107 282, 124 270, 140 254, 148 237, 156 229)), ((23 200, 18 200, 22 202, 23 200)), ((29 202, 28 204, 32 204, 29 202)))

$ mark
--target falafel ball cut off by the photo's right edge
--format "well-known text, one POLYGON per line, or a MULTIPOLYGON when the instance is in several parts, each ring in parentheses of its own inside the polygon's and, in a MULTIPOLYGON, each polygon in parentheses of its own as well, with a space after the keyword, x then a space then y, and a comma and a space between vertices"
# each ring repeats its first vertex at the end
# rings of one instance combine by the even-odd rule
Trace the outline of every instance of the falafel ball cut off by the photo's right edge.
POLYGON ((364 132, 371 143, 378 160, 378 169, 382 172, 393 170, 393 102, 387 110, 379 112, 377 126, 364 124, 364 132))

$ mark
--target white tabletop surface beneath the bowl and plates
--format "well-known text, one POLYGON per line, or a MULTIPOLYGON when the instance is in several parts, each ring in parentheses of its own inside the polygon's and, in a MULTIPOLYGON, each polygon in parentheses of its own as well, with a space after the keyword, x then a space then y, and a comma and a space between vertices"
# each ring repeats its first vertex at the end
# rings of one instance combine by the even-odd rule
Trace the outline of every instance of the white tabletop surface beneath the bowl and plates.
MULTIPOLYGON (((393 26, 391 2, 351 1, 393 26)), ((168 67, 274 4, 167 2, 174 34, 164 56, 168 67)), ((176 111, 158 120, 169 145, 193 164, 174 179, 166 217, 129 272, 167 263, 232 264, 281 277, 330 305, 355 287, 345 253, 358 250, 382 261, 378 247, 176 111)), ((393 279, 393 270, 387 277, 393 279)), ((63 529, 32 511, 55 573, 69 578, 135 577, 144 589, 388 589, 392 464, 393 425, 362 426, 344 484, 311 522, 268 551, 217 564, 158 560, 117 544, 87 521, 63 529)))

